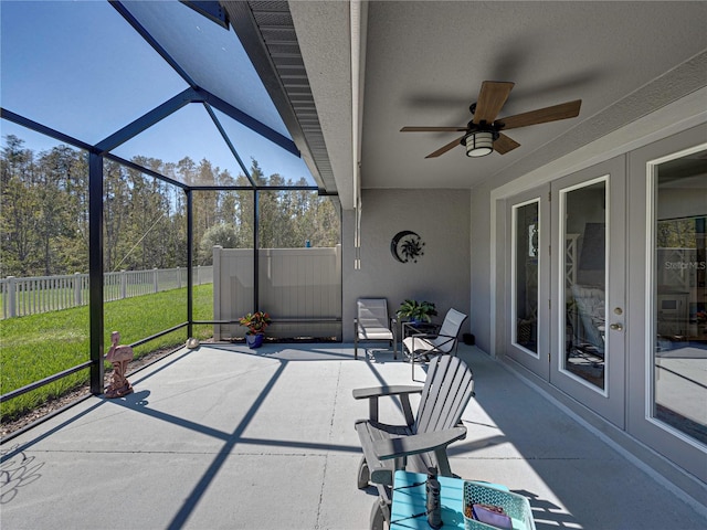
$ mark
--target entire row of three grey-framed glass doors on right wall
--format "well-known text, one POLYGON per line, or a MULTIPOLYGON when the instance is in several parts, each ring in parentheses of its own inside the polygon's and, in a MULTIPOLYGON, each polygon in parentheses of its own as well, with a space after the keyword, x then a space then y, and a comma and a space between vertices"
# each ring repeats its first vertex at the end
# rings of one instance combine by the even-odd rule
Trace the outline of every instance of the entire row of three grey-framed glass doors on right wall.
POLYGON ((506 199, 504 353, 707 480, 707 124, 506 199))

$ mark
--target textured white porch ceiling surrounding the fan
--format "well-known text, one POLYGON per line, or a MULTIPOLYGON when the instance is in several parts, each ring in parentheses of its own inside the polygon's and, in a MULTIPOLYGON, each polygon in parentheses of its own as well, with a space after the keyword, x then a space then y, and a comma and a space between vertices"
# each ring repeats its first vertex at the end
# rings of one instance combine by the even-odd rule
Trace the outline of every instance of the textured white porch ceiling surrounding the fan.
POLYGON ((707 85, 704 1, 360 6, 359 47, 351 45, 351 2, 289 2, 345 208, 352 204, 359 159, 352 47, 365 66, 365 189, 464 189, 514 168, 528 172, 707 85), (463 147, 425 159, 456 134, 400 132, 403 126, 465 125, 486 80, 516 84, 499 117, 578 98, 580 115, 509 130, 520 147, 482 159, 467 158, 463 147))

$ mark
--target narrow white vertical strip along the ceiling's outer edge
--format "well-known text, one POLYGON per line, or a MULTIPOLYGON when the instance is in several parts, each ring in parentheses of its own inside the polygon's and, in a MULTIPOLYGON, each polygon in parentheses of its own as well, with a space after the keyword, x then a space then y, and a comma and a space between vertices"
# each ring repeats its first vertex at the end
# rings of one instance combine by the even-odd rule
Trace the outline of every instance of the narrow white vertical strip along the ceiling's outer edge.
POLYGON ((361 124, 363 120, 363 77, 366 72, 366 31, 368 1, 352 0, 351 31, 351 160, 354 163, 354 268, 361 268, 361 124))

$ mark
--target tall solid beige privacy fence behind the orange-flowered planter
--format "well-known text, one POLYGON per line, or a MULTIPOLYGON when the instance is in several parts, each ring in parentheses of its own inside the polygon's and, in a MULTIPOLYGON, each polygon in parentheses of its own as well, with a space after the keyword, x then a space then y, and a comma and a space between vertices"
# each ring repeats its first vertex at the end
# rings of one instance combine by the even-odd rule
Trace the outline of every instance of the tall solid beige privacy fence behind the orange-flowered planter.
MULTIPOLYGON (((263 248, 258 254, 258 307, 253 307, 253 251, 213 248, 213 316, 234 321, 267 311, 270 337, 341 339, 341 245, 325 248, 263 248)), ((246 329, 214 326, 214 339, 243 337, 246 329)))

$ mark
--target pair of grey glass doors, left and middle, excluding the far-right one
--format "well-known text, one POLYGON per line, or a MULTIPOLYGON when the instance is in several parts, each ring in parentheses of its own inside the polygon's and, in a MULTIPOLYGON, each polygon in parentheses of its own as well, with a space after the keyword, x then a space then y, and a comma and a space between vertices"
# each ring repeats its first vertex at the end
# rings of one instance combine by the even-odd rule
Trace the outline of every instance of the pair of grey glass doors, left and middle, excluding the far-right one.
POLYGON ((506 353, 624 425, 626 177, 613 159, 507 202, 506 353))

